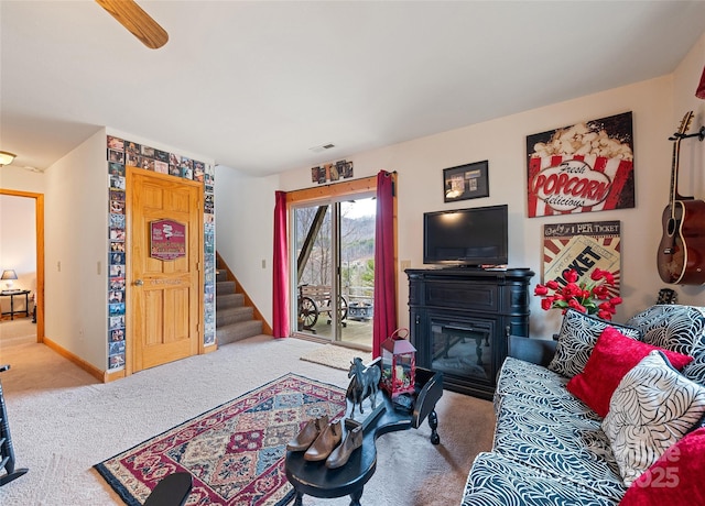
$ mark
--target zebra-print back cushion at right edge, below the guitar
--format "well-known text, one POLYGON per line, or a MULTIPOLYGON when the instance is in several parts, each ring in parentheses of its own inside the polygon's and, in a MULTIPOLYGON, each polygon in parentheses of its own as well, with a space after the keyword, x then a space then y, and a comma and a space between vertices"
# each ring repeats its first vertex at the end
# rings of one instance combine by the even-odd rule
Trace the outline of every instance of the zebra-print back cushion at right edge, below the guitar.
POLYGON ((683 375, 705 386, 705 307, 651 306, 627 324, 641 330, 643 342, 693 358, 683 375))

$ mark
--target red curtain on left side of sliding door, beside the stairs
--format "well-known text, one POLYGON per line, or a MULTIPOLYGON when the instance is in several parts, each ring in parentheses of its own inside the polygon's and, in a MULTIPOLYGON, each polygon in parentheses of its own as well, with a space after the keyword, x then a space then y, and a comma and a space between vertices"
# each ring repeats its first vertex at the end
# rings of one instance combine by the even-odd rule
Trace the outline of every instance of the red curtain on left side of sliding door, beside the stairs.
POLYGON ((276 191, 274 204, 274 257, 272 261, 272 333, 288 338, 289 244, 286 240, 286 193, 276 191))

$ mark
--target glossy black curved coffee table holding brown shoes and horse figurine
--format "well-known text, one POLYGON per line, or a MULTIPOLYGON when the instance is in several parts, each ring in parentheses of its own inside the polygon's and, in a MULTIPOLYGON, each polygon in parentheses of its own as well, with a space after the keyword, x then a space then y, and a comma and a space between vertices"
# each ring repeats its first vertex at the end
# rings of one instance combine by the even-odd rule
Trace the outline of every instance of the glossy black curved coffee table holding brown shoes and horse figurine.
POLYGON ((304 494, 324 498, 349 495, 350 506, 359 506, 362 488, 377 470, 376 440, 387 432, 417 429, 423 420, 429 418, 431 442, 441 442, 436 431, 438 417, 435 406, 443 395, 443 373, 416 367, 415 383, 416 392, 411 413, 395 410, 389 396, 382 396, 384 413, 365 429, 362 447, 350 454, 344 466, 327 469, 325 461, 306 461, 304 452, 286 452, 284 471, 296 494, 294 506, 302 505, 304 494))

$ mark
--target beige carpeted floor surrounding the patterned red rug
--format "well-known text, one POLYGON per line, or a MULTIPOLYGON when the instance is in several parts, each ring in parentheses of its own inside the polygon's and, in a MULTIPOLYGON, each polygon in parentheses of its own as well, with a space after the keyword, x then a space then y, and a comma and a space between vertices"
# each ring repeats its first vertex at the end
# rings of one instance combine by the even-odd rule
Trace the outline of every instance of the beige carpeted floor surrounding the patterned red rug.
MULTIPOLYGON (((299 360, 322 346, 259 336, 108 384, 42 344, 3 346, 1 361, 12 369, 0 381, 17 465, 30 472, 0 487, 0 504, 120 505, 94 464, 288 372, 346 387, 345 371, 299 360)), ((377 440, 377 471, 364 505, 460 503, 473 459, 491 447, 492 406, 444 392, 436 410, 441 444, 430 443, 427 422, 377 440)), ((349 502, 304 496, 304 506, 349 502)))

